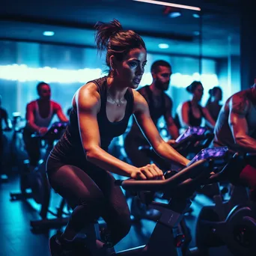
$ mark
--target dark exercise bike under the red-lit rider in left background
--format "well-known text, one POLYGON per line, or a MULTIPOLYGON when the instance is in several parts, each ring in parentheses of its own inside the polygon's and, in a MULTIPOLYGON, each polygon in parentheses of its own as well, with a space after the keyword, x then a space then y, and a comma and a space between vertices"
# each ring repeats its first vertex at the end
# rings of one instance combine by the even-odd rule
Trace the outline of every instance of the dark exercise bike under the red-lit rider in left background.
POLYGON ((49 156, 55 141, 61 138, 61 135, 64 133, 66 127, 66 122, 55 122, 51 127, 49 127, 48 131, 44 135, 32 135, 45 142, 46 153, 44 154, 43 160, 40 161, 37 168, 34 168, 33 171, 31 171, 29 168, 29 160, 24 160, 19 182, 20 192, 10 192, 11 201, 33 198, 37 204, 40 204, 40 216, 42 219, 39 221, 31 221, 31 228, 34 229, 34 231, 39 231, 42 228, 43 230, 47 228, 58 228, 67 224, 67 218, 63 218, 63 209, 65 206, 64 199, 61 201, 57 213, 49 210, 51 187, 46 177, 46 159, 49 156), (31 190, 31 192, 28 192, 28 189, 31 190), (47 213, 51 213, 57 218, 47 219, 47 213))

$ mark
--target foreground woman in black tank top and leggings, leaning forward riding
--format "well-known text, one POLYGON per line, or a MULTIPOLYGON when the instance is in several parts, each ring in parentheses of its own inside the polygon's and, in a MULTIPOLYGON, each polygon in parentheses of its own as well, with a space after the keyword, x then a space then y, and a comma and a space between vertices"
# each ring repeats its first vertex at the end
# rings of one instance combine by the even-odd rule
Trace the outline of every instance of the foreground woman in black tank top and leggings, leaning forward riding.
POLYGON ((162 140, 147 102, 135 91, 147 63, 144 41, 116 19, 98 22, 96 28, 97 48, 106 49, 110 71, 76 91, 70 124, 49 155, 49 183, 73 207, 64 233, 50 239, 51 255, 64 255, 76 234, 100 216, 114 245, 128 234, 129 208, 111 172, 137 180, 164 179, 156 165, 138 168, 107 153, 112 138, 127 129, 132 114, 159 156, 181 166, 189 162, 162 140))

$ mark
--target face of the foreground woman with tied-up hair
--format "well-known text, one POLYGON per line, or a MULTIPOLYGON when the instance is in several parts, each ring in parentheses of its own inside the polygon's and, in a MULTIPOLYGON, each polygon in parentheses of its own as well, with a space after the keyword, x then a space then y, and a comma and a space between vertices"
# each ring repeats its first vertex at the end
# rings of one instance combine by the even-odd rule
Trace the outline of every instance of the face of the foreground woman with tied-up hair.
POLYGON ((144 48, 130 50, 123 61, 117 61, 116 78, 122 87, 138 88, 147 64, 147 51, 144 48))

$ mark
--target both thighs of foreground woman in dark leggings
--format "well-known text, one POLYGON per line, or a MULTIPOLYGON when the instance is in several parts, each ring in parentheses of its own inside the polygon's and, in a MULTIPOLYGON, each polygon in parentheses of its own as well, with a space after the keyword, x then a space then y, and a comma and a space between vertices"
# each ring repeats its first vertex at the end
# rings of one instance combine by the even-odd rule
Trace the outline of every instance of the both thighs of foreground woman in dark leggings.
POLYGON ((72 208, 82 202, 91 202, 103 209, 100 215, 104 219, 129 215, 124 193, 120 186, 115 186, 115 178, 109 171, 63 165, 56 171, 50 171, 48 177, 52 189, 65 198, 72 208))

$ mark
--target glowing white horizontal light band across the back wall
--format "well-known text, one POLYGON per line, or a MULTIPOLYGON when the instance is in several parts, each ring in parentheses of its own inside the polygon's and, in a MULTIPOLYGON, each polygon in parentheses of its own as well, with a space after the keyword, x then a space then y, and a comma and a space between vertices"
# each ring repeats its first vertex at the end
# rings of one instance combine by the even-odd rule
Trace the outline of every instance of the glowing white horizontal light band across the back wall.
MULTIPOLYGON (((85 68, 81 70, 59 70, 52 67, 34 68, 28 67, 24 64, 0 66, 0 79, 19 81, 19 82, 31 82, 31 81, 45 81, 45 82, 60 82, 73 83, 79 82, 85 84, 88 81, 105 76, 100 68, 90 69, 85 68)), ((216 74, 202 74, 194 73, 192 76, 181 73, 173 73, 171 75, 171 85, 178 88, 186 88, 194 80, 200 80, 204 87, 213 88, 213 86, 219 85, 219 80, 216 74)), ((141 79, 141 86, 150 85, 152 82, 151 73, 144 73, 141 79)))

